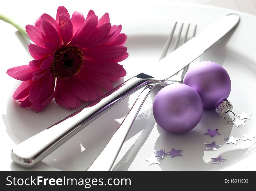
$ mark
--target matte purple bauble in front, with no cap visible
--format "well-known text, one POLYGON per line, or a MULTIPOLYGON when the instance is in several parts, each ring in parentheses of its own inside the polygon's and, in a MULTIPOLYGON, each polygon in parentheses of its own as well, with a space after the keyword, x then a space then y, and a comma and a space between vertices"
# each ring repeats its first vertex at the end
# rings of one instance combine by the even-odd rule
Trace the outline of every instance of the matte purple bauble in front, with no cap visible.
POLYGON ((170 133, 185 133, 200 121, 203 104, 198 93, 185 84, 170 84, 161 89, 153 103, 158 125, 170 133))

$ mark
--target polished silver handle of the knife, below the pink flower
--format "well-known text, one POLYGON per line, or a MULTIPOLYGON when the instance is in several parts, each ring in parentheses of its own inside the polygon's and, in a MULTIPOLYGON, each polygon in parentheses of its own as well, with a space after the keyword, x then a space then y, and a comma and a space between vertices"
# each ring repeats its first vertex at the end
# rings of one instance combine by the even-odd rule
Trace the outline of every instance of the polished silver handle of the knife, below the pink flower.
POLYGON ((150 77, 152 76, 139 74, 138 76, 130 78, 99 99, 31 138, 17 144, 11 151, 13 162, 22 167, 33 167, 129 94, 142 86, 152 83, 150 77))

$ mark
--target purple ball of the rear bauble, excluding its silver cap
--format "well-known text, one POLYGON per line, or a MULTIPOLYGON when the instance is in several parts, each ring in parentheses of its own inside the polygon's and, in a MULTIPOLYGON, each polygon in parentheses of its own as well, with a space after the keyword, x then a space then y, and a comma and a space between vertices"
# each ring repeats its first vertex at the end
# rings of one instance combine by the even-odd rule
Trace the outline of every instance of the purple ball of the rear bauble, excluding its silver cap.
POLYGON ((231 81, 227 71, 210 61, 199 62, 184 76, 183 83, 200 95, 204 109, 213 109, 221 100, 228 98, 231 81))

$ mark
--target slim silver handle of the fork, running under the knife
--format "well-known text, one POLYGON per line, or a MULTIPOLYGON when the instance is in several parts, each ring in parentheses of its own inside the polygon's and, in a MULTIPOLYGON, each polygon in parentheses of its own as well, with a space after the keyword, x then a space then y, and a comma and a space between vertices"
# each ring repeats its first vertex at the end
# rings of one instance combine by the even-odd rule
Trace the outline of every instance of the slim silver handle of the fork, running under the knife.
POLYGON ((145 87, 145 89, 134 102, 118 130, 115 132, 108 144, 87 170, 111 170, 111 167, 113 166, 120 148, 125 141, 129 129, 131 128, 136 116, 138 115, 145 99, 150 94, 152 88, 154 88, 155 85, 156 84, 150 84, 145 87))

